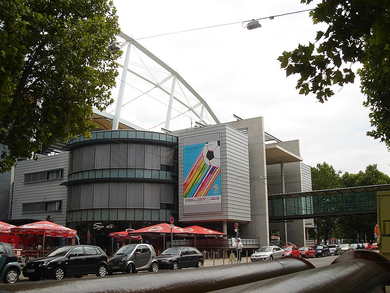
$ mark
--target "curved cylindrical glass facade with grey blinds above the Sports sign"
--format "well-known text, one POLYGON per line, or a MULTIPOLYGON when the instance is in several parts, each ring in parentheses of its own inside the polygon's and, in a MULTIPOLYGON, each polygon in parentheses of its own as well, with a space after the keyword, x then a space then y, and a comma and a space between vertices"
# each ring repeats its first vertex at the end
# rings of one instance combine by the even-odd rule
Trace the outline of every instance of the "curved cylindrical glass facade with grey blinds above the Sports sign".
POLYGON ((111 250, 110 232, 177 218, 177 146, 176 136, 137 130, 70 141, 66 222, 81 243, 111 250))

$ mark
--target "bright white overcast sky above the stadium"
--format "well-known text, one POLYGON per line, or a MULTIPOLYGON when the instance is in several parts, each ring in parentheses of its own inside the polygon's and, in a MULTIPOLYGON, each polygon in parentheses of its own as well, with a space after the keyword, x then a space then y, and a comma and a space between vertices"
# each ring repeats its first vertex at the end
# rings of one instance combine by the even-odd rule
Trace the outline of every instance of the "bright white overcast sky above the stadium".
MULTIPOLYGON (((365 96, 358 78, 354 84, 334 88, 335 95, 321 104, 313 94, 299 95, 295 89, 298 76, 286 77, 277 61, 283 51, 313 42, 316 32, 325 27, 314 25, 308 11, 293 13, 314 8, 318 2, 114 0, 114 5, 121 31, 180 74, 221 123, 234 121, 233 114, 242 119, 262 116, 267 133, 281 141, 299 139, 303 163, 309 166, 326 162, 336 171, 357 173, 377 164, 390 174, 385 144, 366 136, 372 129, 370 111, 362 105, 365 96), (278 16, 282 14, 287 15, 278 16), (270 16, 275 17, 271 20, 270 16), (244 21, 252 19, 262 19, 261 28, 245 28, 244 21)), ((156 80, 161 81, 164 75, 158 66, 132 50, 129 69, 154 66, 148 72, 160 74, 156 80)), ((124 63, 124 55, 119 64, 124 63)), ((117 88, 112 91, 115 100, 121 68, 118 71, 117 88)), ((121 118, 161 132, 169 96, 141 83, 127 75, 121 118)), ((191 100, 182 86, 176 84, 175 89, 191 100)), ((172 117, 177 118, 171 120, 170 130, 195 126, 195 120, 178 107, 173 106, 172 117)), ((114 114, 115 103, 106 112, 114 114)))

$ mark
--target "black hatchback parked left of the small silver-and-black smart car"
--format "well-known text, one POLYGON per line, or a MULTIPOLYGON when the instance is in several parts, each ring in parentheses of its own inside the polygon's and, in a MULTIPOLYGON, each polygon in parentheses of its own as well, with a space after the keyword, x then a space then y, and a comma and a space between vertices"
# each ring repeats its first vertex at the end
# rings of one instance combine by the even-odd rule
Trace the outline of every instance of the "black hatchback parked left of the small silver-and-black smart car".
POLYGON ((30 281, 40 278, 61 280, 66 276, 81 278, 83 275, 96 274, 105 276, 108 269, 108 258, 97 246, 69 245, 60 246, 27 262, 23 275, 30 281))

